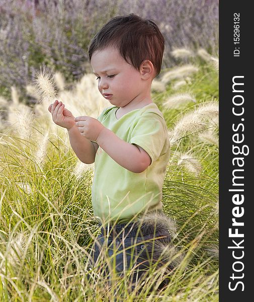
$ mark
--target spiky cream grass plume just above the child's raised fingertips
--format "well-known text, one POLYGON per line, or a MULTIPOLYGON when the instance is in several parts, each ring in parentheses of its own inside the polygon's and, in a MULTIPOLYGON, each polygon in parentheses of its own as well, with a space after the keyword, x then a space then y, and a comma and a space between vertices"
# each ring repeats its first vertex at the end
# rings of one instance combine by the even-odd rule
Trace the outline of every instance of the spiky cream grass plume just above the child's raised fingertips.
POLYGON ((49 70, 46 65, 43 65, 42 68, 40 67, 40 72, 36 72, 33 83, 36 91, 40 95, 41 102, 45 102, 46 105, 49 105, 57 98, 57 90, 54 78, 52 77, 52 71, 49 70))

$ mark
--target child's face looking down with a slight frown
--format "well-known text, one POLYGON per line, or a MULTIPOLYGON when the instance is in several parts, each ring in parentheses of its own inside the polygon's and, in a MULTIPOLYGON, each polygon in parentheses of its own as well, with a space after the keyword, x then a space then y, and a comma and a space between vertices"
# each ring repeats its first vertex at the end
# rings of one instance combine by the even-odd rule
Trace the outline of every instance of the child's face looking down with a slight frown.
POLYGON ((142 72, 128 64, 114 48, 95 51, 91 65, 98 79, 100 93, 110 94, 105 97, 112 105, 124 107, 129 103, 138 103, 144 97, 147 81, 142 79, 142 72), (104 72, 107 70, 106 72, 104 72))

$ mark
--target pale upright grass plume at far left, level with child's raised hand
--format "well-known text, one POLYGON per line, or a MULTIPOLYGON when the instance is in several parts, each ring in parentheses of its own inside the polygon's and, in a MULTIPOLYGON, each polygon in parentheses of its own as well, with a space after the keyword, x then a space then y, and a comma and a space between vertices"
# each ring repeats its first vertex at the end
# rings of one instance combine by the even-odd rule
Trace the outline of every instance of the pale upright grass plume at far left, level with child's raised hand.
POLYGON ((18 133, 23 139, 29 139, 32 133, 32 124, 34 120, 33 112, 28 106, 22 106, 22 108, 16 111, 17 122, 15 127, 18 133))

